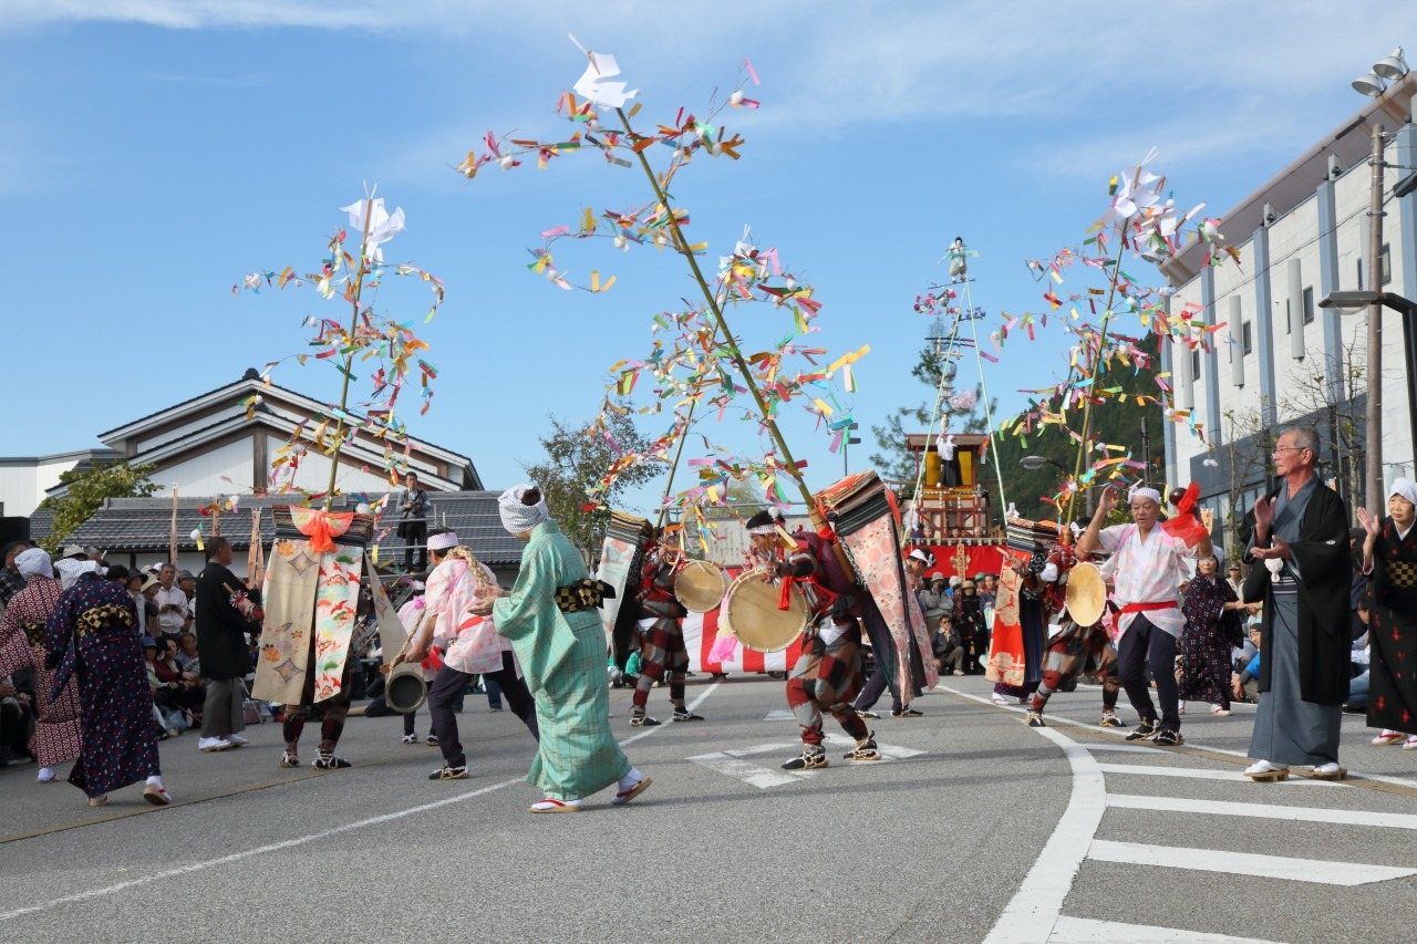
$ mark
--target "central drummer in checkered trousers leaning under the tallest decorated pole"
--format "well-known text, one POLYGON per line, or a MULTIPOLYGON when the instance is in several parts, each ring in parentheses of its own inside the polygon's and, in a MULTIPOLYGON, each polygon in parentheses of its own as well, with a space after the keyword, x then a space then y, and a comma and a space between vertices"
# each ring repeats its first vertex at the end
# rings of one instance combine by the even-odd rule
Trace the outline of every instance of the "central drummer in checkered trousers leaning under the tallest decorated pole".
POLYGON ((826 767, 822 747, 822 714, 830 714, 856 740, 846 760, 880 760, 876 738, 852 707, 862 687, 862 624, 856 587, 842 571, 832 547, 820 534, 798 532, 788 560, 777 544, 778 523, 768 512, 748 519, 754 551, 775 561, 771 573, 788 583, 784 595, 796 587, 806 598, 811 624, 802 638, 788 679, 788 707, 802 726, 802 754, 782 764, 784 770, 826 767))

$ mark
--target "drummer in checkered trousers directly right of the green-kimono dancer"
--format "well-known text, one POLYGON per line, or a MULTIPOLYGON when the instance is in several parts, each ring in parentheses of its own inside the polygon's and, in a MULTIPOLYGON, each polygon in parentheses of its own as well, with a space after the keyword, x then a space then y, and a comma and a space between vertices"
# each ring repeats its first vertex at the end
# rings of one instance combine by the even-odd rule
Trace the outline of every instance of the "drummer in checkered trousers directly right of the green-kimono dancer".
POLYGON ((645 563, 639 573, 639 682, 635 683, 632 727, 653 727, 659 721, 646 714, 649 690, 669 672, 669 703, 676 721, 701 721, 684 706, 684 673, 689 670, 689 649, 684 646, 684 626, 680 622, 689 611, 674 595, 674 578, 683 566, 677 550, 666 541, 669 529, 662 529, 645 549, 645 563))

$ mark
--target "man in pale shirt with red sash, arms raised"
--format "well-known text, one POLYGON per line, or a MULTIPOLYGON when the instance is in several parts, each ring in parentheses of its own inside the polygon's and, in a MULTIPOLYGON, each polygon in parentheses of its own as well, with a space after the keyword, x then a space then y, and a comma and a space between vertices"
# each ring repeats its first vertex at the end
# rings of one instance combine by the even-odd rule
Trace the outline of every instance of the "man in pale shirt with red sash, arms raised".
POLYGON ((1155 740, 1158 744, 1185 743, 1180 736, 1180 702, 1176 692, 1176 642, 1186 625, 1180 612, 1178 588, 1190 578, 1185 558, 1209 557, 1210 536, 1206 534, 1187 547, 1162 527, 1161 492, 1134 488, 1131 492, 1132 524, 1102 527, 1102 522, 1117 507, 1117 492, 1102 489, 1097 515, 1077 543, 1078 554, 1101 550, 1112 557, 1102 564, 1102 577, 1111 578, 1114 600, 1121 607, 1117 626, 1117 675, 1127 690, 1127 700, 1136 709, 1141 724, 1127 736, 1129 741, 1155 740), (1146 685, 1151 666, 1161 702, 1161 719, 1146 685))

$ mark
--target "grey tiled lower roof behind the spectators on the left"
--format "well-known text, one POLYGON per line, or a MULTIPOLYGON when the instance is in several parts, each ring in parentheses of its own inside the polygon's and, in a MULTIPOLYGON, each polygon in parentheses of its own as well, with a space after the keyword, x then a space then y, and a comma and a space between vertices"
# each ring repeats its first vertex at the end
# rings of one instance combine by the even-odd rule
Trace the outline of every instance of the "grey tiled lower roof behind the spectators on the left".
MULTIPOLYGON (((378 495, 368 495, 377 500, 378 495)), ((429 492, 432 513, 428 527, 451 527, 458 532, 463 544, 472 549, 478 560, 489 567, 516 567, 521 563, 521 541, 507 534, 497 515, 496 492, 429 492), (446 517, 446 523, 445 519, 446 517)), ((198 524, 203 534, 211 537, 211 519, 204 517, 201 506, 213 499, 181 498, 177 500, 177 550, 196 551, 197 541, 191 532, 198 524)), ((268 509, 272 505, 289 505, 288 496, 242 496, 239 510, 221 516, 221 534, 231 541, 232 549, 245 550, 251 544, 251 509, 268 509)), ((336 506, 349 510, 351 506, 336 506)), ((136 553, 166 550, 171 533, 171 499, 133 498, 109 499, 94 517, 84 522, 65 543, 99 547, 112 553, 136 553)), ((404 543, 397 534, 397 517, 385 516, 376 532, 380 560, 402 557, 404 543), (383 534, 378 537, 378 534, 383 534)), ((34 530, 34 517, 30 520, 34 530)), ((47 526, 45 526, 47 530, 47 526)), ((261 515, 261 543, 269 546, 275 526, 269 512, 261 515)))

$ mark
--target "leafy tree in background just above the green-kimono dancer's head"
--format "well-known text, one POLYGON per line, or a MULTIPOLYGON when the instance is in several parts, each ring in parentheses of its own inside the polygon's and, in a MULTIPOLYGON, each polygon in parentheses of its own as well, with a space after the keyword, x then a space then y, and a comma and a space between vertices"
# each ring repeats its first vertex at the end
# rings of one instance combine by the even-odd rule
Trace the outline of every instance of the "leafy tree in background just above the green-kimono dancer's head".
MULTIPOLYGON (((621 452, 645 452, 649 448, 650 441, 635 428, 628 412, 609 412, 606 425, 621 452)), ((599 550, 611 515, 604 509, 587 512, 587 493, 605 478, 621 454, 594 429, 594 424, 575 425, 554 414, 551 431, 540 442, 546 459, 523 468, 530 481, 541 488, 551 516, 571 543, 582 553, 594 554, 599 550)), ((663 468, 662 463, 643 463, 625 469, 605 490, 605 505, 614 505, 626 489, 653 482, 663 468)))

